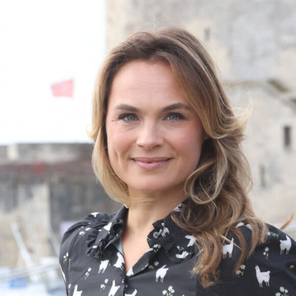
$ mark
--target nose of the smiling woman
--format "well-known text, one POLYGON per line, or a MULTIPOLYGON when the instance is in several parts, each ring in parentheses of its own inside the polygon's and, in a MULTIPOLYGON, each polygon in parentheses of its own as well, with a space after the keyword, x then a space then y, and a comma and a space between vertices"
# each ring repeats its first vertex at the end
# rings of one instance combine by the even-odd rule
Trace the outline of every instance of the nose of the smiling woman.
POLYGON ((145 122, 142 124, 137 137, 138 146, 151 150, 154 147, 161 146, 163 141, 161 129, 155 122, 145 122))

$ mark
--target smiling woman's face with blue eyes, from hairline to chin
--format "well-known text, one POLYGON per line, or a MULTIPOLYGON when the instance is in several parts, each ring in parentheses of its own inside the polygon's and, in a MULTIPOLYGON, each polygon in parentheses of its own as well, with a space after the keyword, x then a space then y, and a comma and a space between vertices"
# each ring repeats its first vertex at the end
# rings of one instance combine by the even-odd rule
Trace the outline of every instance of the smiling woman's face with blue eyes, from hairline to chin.
POLYGON ((168 65, 133 61, 118 70, 106 131, 111 166, 131 196, 184 196, 184 182, 198 165, 205 137, 168 65))

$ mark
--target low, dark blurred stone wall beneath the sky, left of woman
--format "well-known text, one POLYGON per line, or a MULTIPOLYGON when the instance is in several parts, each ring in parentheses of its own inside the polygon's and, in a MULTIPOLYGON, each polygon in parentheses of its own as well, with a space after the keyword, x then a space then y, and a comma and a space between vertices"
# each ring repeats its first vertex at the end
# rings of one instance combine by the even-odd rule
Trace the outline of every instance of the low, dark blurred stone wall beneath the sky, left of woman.
POLYGON ((23 266, 26 254, 32 264, 57 256, 65 227, 91 212, 118 209, 96 181, 91 144, 19 144, 13 149, 17 157, 3 153, 0 163, 0 266, 23 266))

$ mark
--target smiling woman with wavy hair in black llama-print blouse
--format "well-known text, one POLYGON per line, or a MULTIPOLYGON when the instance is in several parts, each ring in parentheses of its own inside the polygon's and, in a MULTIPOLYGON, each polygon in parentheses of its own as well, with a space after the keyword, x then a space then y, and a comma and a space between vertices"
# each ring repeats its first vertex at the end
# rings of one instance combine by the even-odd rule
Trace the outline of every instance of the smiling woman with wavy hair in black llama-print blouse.
POLYGON ((213 62, 180 29, 136 33, 93 95, 93 167, 114 200, 61 246, 68 295, 296 295, 296 243, 255 216, 213 62))

